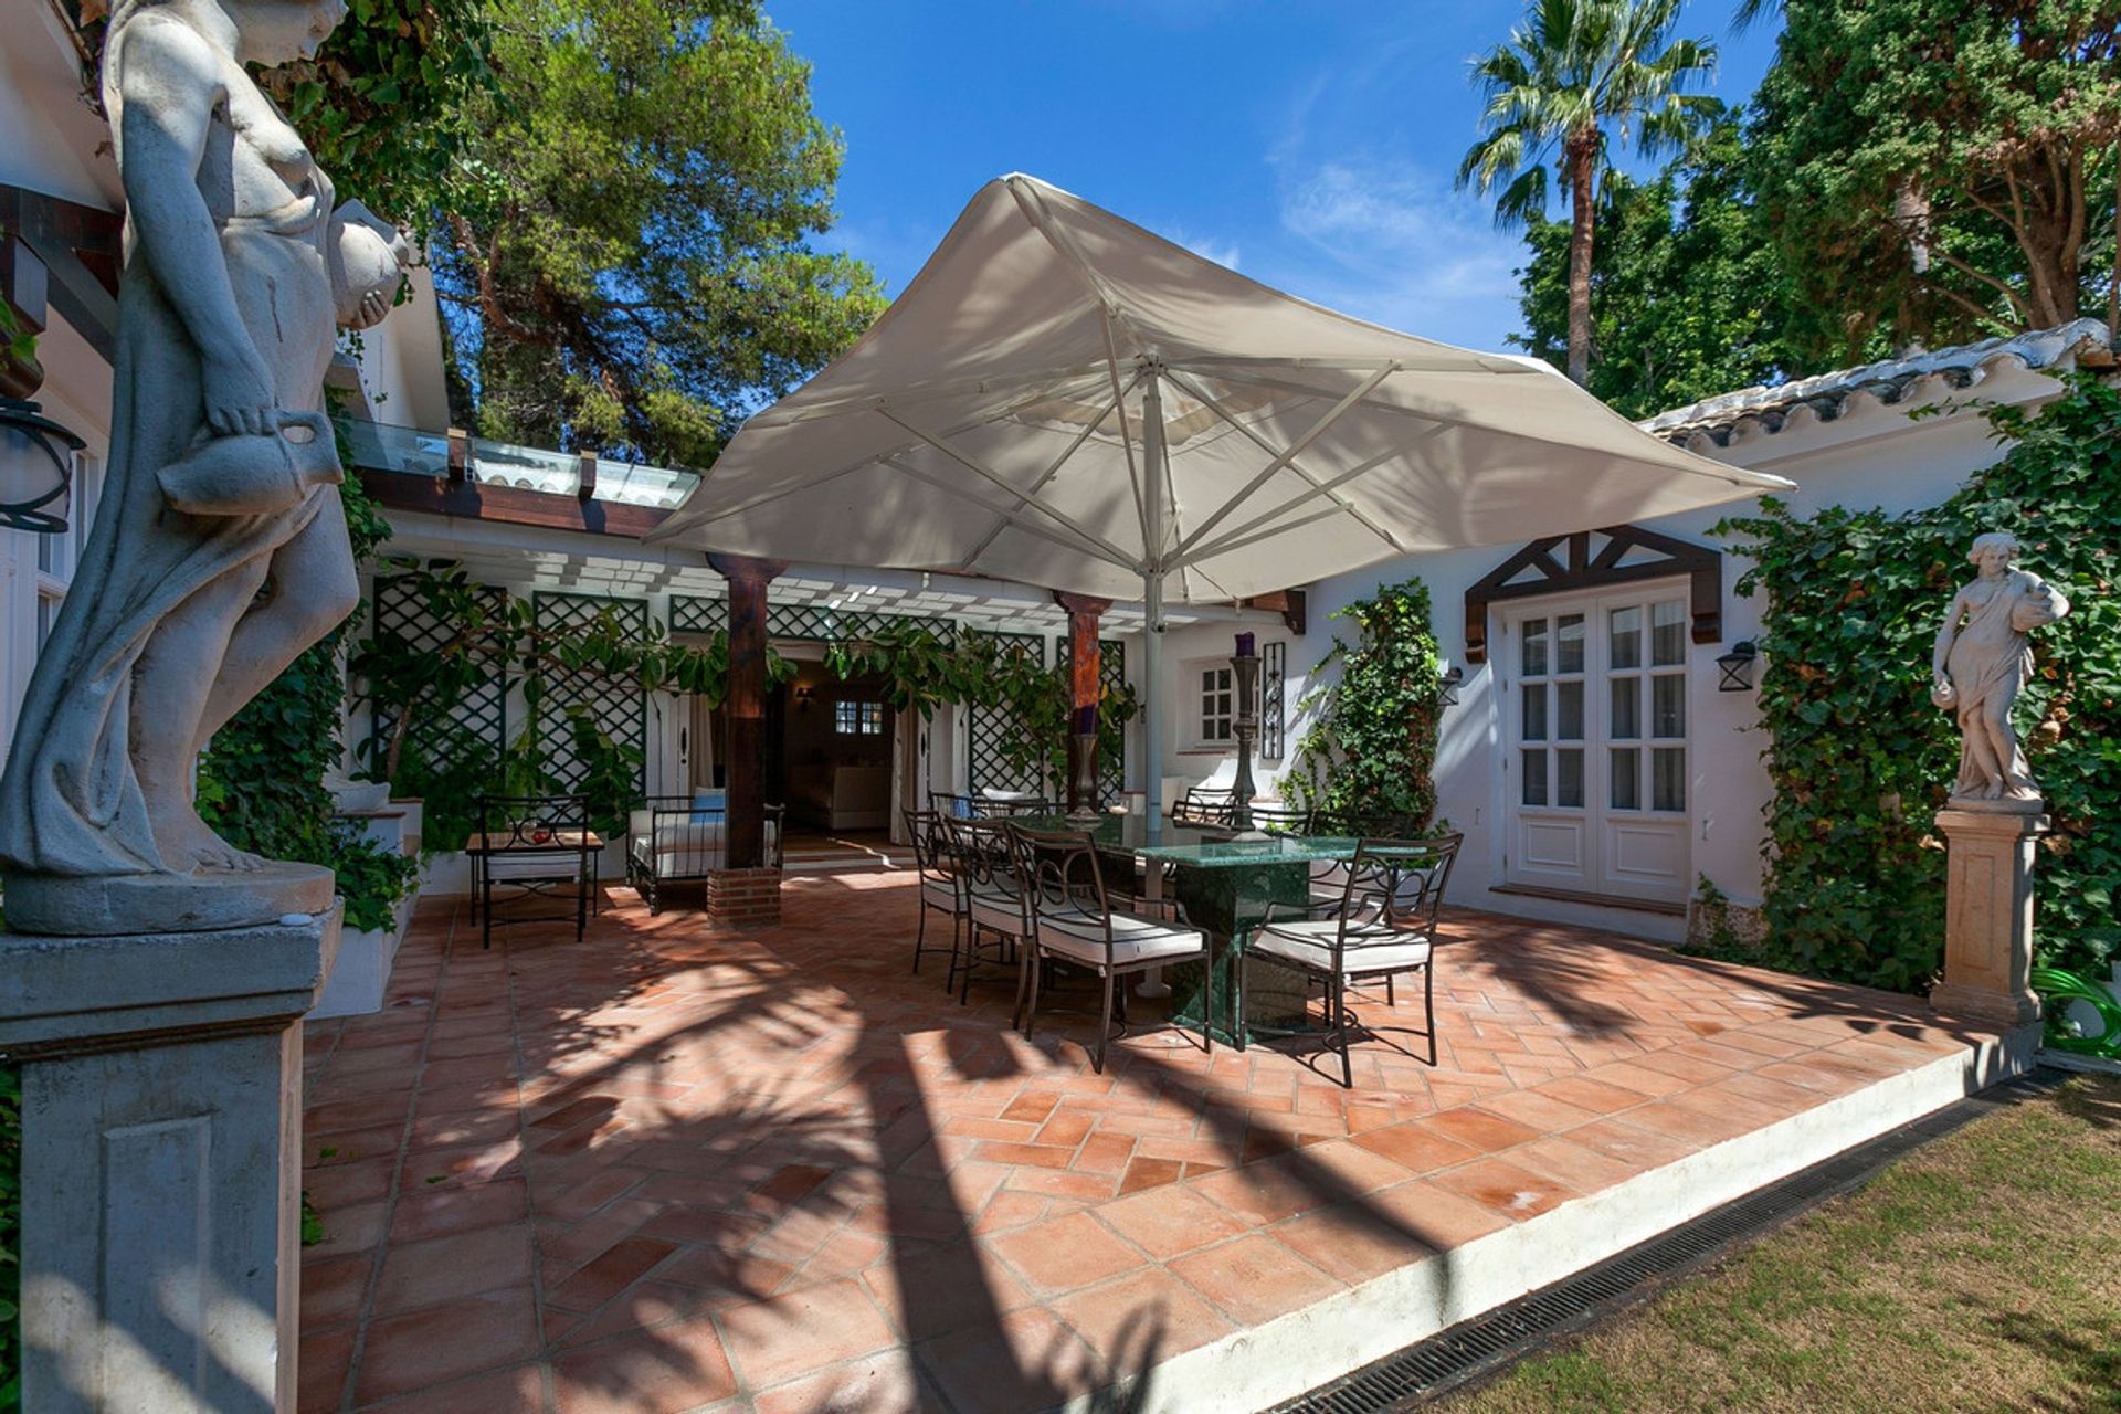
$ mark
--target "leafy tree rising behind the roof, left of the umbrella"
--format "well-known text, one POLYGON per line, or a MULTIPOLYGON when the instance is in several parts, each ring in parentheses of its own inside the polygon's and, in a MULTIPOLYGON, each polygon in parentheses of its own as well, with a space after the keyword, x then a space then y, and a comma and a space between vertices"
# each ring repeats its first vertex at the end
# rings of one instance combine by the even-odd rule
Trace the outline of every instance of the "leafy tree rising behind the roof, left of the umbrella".
POLYGON ((704 466, 882 310, 834 220, 840 136, 749 0, 486 0, 479 182, 433 246, 488 437, 704 466))

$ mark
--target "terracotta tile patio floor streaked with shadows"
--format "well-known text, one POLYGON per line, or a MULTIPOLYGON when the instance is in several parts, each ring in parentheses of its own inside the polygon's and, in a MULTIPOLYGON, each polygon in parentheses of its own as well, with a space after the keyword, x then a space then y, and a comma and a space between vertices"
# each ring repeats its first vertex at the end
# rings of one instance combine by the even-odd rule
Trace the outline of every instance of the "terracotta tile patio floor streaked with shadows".
POLYGON ((910 973, 908 873, 751 937, 609 897, 492 952, 422 903, 384 1011, 310 1028, 303 1410, 1046 1408, 1964 1045, 1457 914, 1436 1066, 1145 1028, 1099 1077, 1086 988, 1027 1043, 1012 977, 910 973))

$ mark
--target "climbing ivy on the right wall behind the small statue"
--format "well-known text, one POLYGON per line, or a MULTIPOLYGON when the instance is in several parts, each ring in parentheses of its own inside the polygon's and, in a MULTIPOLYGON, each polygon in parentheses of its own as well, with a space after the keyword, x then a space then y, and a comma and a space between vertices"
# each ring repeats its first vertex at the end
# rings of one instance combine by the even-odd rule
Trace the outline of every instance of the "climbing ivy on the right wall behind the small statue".
POLYGON ((2017 534, 2026 566, 2070 598, 2070 617, 2032 636, 2017 717, 2055 820, 2038 850, 2038 960, 2091 971, 2121 948, 2121 392, 2079 373, 2036 411, 1985 416, 2009 454, 1939 507, 1799 517, 1763 500, 1718 526, 1754 560, 1739 594, 1767 596, 1767 939, 1750 956, 1769 967, 1894 990, 1941 967, 1934 814, 1958 729, 1928 700, 1930 651, 1985 530, 2017 534))

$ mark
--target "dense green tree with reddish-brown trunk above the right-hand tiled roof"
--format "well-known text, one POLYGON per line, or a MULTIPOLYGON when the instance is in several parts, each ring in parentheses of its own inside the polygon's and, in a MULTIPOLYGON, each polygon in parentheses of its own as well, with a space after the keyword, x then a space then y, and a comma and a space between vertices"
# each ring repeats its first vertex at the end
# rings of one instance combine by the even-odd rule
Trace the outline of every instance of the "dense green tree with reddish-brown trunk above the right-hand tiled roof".
POLYGON ((1854 350, 2104 312, 2117 0, 1790 0, 1752 172, 1799 295, 1854 350))

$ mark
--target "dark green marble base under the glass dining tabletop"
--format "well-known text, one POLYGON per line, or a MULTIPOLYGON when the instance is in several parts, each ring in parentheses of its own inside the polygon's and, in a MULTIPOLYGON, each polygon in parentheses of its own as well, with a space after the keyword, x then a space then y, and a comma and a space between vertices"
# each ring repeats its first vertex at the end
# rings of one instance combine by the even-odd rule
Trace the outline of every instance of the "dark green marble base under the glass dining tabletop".
POLYGON ((1311 867, 1254 865, 1243 869, 1190 869, 1179 865, 1175 878, 1179 907, 1196 929, 1209 933, 1213 962, 1177 962, 1164 971, 1171 984, 1171 1020, 1188 1030, 1203 1030, 1203 1001, 1213 996, 1215 1026, 1207 1035, 1224 1045, 1237 1045, 1232 1011, 1237 1003, 1237 969, 1245 969, 1245 1030, 1275 1026, 1281 1030, 1315 1030, 1304 1005, 1311 994, 1304 975, 1245 956, 1254 924, 1266 918, 1268 903, 1309 903, 1311 867))

